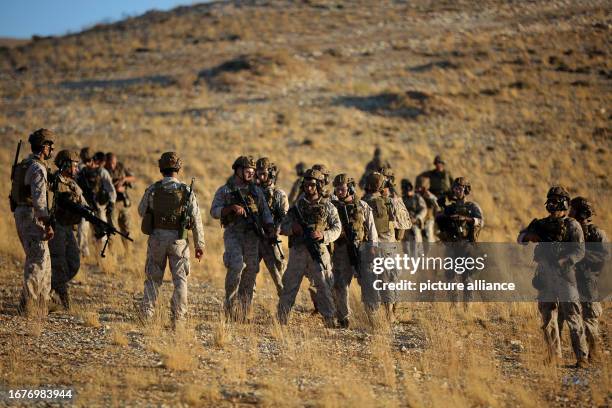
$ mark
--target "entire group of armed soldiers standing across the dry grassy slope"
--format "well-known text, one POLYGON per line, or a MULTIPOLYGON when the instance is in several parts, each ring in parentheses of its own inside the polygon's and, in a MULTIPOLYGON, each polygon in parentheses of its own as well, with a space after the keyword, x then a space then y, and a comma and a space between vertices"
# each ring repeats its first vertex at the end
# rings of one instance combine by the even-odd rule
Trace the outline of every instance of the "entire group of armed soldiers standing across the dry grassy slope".
MULTIPOLYGON (((46 304, 51 288, 69 307, 67 283, 78 271, 79 254, 87 251, 86 222, 93 225, 94 235, 104 248, 113 233, 120 233, 126 245, 130 239, 126 190, 134 176, 114 154, 90 156, 88 149, 83 149, 80 160, 75 152, 60 151, 55 158, 58 171, 48 178, 44 161, 51 157, 53 138, 53 132, 46 129, 32 133, 32 154, 20 163, 16 161, 12 174, 11 205, 26 253, 20 302, 24 310, 32 302, 46 304), (50 187, 51 209, 47 203, 50 187), (113 213, 118 215, 120 231, 114 229, 113 213)), ((187 233, 192 231, 198 260, 204 253, 204 234, 193 183, 188 186, 178 179, 182 160, 176 153, 166 152, 158 165, 162 179, 147 187, 138 205, 141 230, 149 236, 139 316, 144 322, 153 317, 168 264, 174 284, 171 315, 176 325, 187 315, 187 233)), ((354 277, 368 317, 374 318, 382 309, 393 322, 397 293, 375 290, 373 280, 395 282, 397 271, 375 277, 371 269, 363 267, 360 257, 393 257, 402 251, 418 255, 426 250, 424 243, 438 240, 473 243, 484 225, 481 208, 467 199, 471 193, 467 178, 453 179, 440 156, 434 159, 434 166, 417 177, 416 187, 403 179, 398 192, 390 164, 376 149, 358 184, 365 193, 358 197, 358 185, 348 174, 337 174, 332 180, 326 166, 306 168, 300 163, 296 166, 298 178, 287 197, 276 184, 278 168, 270 159, 238 157, 232 165, 233 174, 216 190, 210 208, 211 216, 219 219, 223 228, 226 318, 250 319, 263 260, 279 297, 280 324, 287 324, 304 276, 310 282, 315 311, 326 327, 349 327, 349 286, 354 277), (279 235, 289 239, 288 256, 283 253, 279 235)), ((570 201, 561 187, 551 188, 547 198, 549 216, 534 220, 521 232, 519 242, 602 244, 595 251, 574 246, 573 252, 560 255, 554 265, 536 259, 540 272, 557 268, 577 278, 565 284, 565 290, 573 296, 570 301, 541 301, 539 310, 551 355, 560 355, 559 322, 566 321, 578 364, 584 365, 596 350, 597 317, 601 314, 601 306, 595 301, 596 278, 607 256, 603 245, 606 237, 590 223, 593 211, 588 200, 577 197, 570 201)), ((545 290, 539 289, 541 293, 545 290)))

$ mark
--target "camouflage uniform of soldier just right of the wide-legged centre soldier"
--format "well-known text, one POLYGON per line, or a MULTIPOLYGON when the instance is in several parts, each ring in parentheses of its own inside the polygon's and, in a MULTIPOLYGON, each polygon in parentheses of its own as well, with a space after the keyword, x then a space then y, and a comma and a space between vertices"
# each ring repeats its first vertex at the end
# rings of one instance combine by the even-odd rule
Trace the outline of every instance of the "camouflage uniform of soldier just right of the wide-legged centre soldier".
MULTIPOLYGON (((374 216, 372 215, 372 209, 365 202, 359 200, 357 206, 354 203, 345 203, 339 200, 333 200, 332 203, 338 210, 338 214, 344 213, 344 208, 347 210, 349 216, 349 222, 352 224, 352 229, 356 234, 358 240, 355 242, 355 246, 359 248, 362 242, 367 242, 369 245, 376 245, 378 243, 378 234, 376 232, 376 225, 374 224, 374 216)), ((340 216, 340 219, 345 223, 347 220, 344 216, 340 216)), ((334 275, 334 300, 336 304, 336 316, 341 325, 348 325, 348 317, 350 315, 349 307, 349 287, 353 276, 357 276, 359 286, 361 287, 361 299, 368 309, 376 308, 376 291, 372 287, 373 278, 370 279, 362 278, 362 276, 373 274, 369 270, 356 270, 348 254, 348 240, 346 229, 349 228, 348 224, 342 224, 342 233, 336 242, 334 242, 334 252, 332 254, 332 271, 334 275)), ((362 248, 362 254, 367 253, 369 248, 362 248)), ((364 262, 360 262, 361 265, 364 262)))

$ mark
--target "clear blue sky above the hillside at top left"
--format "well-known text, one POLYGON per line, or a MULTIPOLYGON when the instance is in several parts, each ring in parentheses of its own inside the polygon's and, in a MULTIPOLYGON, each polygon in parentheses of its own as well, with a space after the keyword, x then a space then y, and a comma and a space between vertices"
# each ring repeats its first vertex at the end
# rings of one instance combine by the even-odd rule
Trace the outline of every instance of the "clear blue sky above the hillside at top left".
MULTIPOLYGON (((204 2, 204 1, 200 1, 204 2)), ((148 10, 169 10, 190 0, 0 0, 0 37, 30 38, 78 32, 148 10)))

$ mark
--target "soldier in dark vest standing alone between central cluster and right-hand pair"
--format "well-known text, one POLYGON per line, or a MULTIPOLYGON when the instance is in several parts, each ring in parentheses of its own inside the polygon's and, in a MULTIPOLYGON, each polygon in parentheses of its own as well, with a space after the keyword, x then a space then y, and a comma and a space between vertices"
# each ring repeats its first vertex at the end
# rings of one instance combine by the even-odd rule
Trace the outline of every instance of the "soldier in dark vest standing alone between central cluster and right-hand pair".
MULTIPOLYGON (((445 205, 443 211, 436 216, 436 224, 440 229, 440 240, 446 244, 447 256, 472 256, 474 248, 465 244, 476 242, 484 226, 480 206, 473 201, 466 201, 471 191, 472 186, 467 178, 456 178, 452 184, 452 193, 444 196, 451 202, 445 205)), ((446 270, 445 276, 450 282, 464 283, 463 300, 467 308, 467 302, 473 297, 473 291, 467 289, 468 284, 473 281, 472 275, 467 271, 459 274, 454 270, 446 270)), ((449 297, 453 303, 456 302, 457 292, 450 291, 449 297)))

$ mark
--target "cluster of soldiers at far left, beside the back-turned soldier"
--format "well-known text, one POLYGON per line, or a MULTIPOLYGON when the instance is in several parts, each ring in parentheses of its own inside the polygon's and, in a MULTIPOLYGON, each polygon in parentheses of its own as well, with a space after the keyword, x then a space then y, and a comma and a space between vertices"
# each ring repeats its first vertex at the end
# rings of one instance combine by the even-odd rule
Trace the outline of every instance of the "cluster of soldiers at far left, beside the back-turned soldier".
POLYGON ((11 172, 10 204, 26 253, 23 312, 33 306, 46 312, 57 303, 70 308, 68 283, 80 269, 81 255, 90 253, 90 221, 98 242, 112 232, 131 239, 127 188, 134 176, 114 153, 91 155, 89 148, 80 155, 61 150, 54 157, 57 171, 50 174, 46 160, 52 158, 54 138, 48 129, 32 133, 31 154, 19 162, 18 149, 11 172), (120 231, 113 227, 114 214, 120 231))

